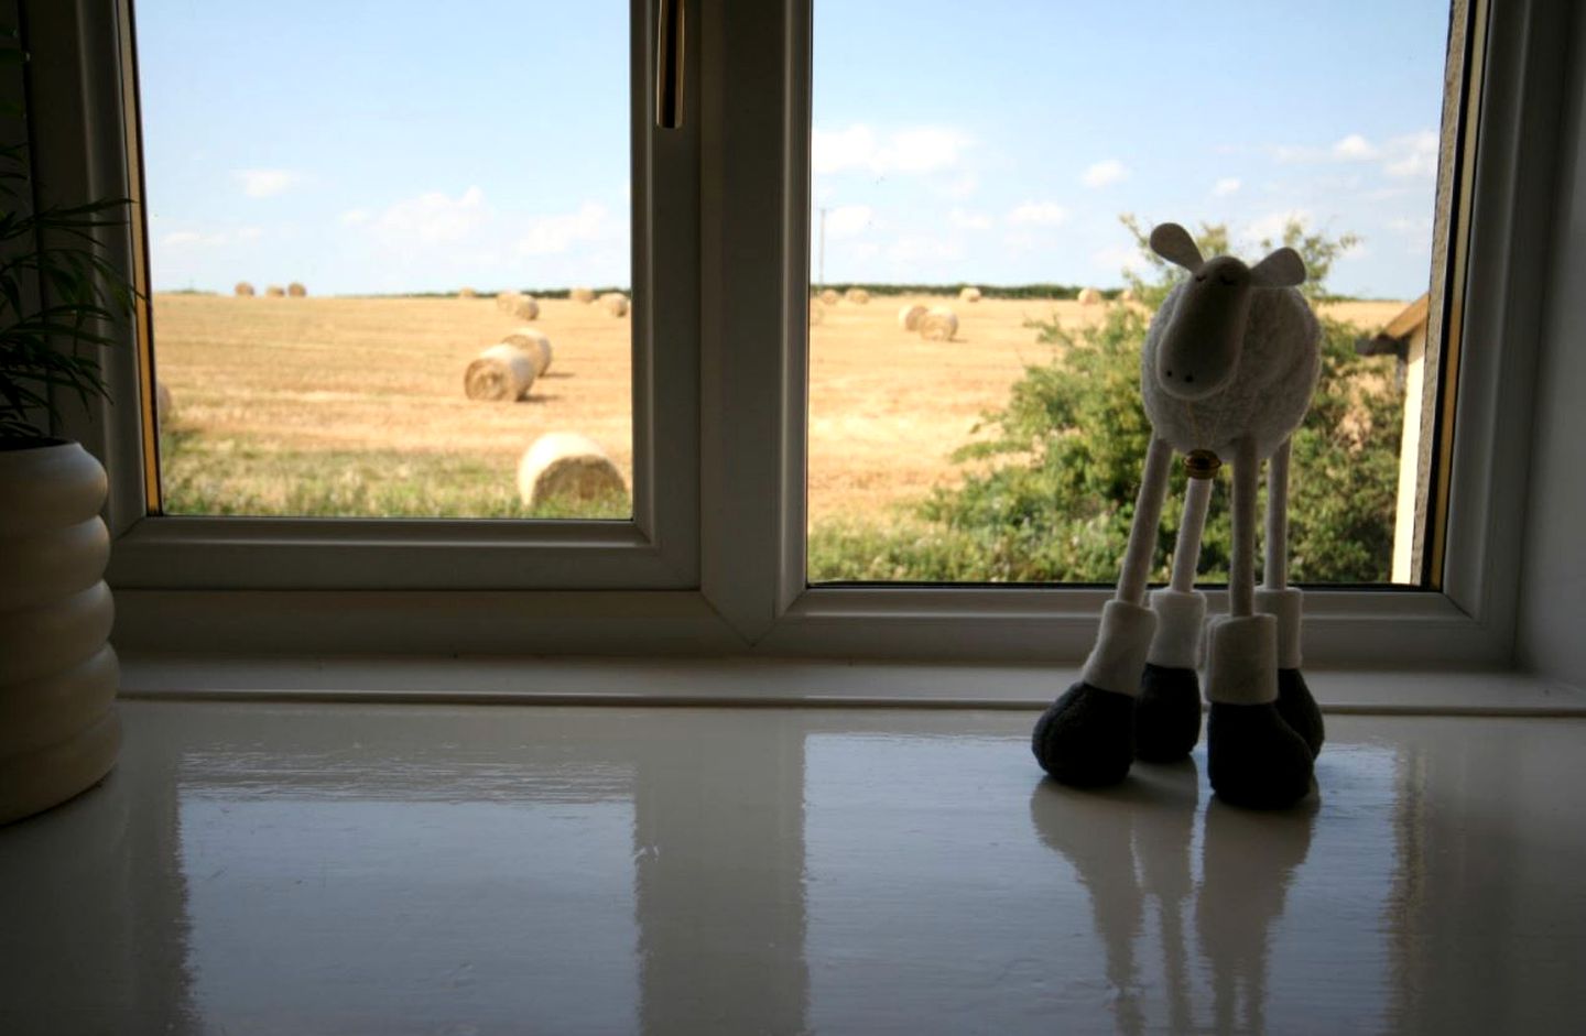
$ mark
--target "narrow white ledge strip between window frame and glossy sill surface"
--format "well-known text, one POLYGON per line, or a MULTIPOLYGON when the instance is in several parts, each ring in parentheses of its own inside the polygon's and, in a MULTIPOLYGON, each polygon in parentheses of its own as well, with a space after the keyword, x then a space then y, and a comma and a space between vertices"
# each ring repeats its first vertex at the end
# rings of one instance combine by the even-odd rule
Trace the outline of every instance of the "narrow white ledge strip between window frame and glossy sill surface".
MULTIPOLYGON (((1036 709, 1077 666, 806 658, 132 655, 124 698, 1036 709)), ((1513 671, 1307 670, 1334 714, 1586 716, 1586 690, 1513 671)))

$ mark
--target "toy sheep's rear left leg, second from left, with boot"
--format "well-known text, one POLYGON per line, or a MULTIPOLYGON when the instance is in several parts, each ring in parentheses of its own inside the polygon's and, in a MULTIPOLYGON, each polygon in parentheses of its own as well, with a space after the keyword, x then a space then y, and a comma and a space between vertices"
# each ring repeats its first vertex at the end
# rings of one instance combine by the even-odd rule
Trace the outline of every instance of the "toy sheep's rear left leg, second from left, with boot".
POLYGON ((1194 589, 1194 571, 1210 500, 1212 479, 1191 476, 1174 546, 1172 584, 1151 590, 1156 636, 1145 654, 1140 693, 1134 700, 1134 754, 1151 763, 1185 758, 1201 739, 1196 666, 1201 665, 1205 595, 1194 589))

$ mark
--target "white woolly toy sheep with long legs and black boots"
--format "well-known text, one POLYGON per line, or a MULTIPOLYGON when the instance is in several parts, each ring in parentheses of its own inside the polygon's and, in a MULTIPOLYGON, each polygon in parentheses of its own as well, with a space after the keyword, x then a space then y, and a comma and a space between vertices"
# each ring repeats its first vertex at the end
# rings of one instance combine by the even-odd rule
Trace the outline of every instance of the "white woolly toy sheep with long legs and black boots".
POLYGON ((1202 259, 1177 224, 1151 230, 1151 251, 1183 267, 1151 319, 1140 392, 1151 443, 1118 587, 1080 681, 1034 730, 1036 758, 1064 784, 1121 781, 1136 757, 1183 758, 1201 736, 1205 597, 1194 589, 1212 481, 1232 463, 1229 614, 1207 633, 1207 757, 1228 803, 1281 808, 1312 787, 1323 722, 1301 676, 1301 592, 1288 585, 1289 439, 1320 373, 1320 327, 1296 290, 1305 263, 1280 247, 1255 267, 1202 259), (1174 452, 1190 484, 1172 579, 1147 603, 1147 574, 1174 452), (1269 462, 1264 585, 1255 585, 1256 479, 1269 462))

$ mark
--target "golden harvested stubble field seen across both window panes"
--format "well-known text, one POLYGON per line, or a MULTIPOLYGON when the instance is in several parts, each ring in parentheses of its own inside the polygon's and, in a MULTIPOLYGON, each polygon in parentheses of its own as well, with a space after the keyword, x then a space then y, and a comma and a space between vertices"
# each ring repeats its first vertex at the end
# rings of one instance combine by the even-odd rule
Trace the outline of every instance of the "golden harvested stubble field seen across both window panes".
MULTIPOLYGON (((923 341, 898 327, 898 308, 955 298, 880 298, 828 308, 810 332, 815 522, 882 519, 885 505, 950 484, 948 454, 1026 363, 1050 357, 1026 324, 1056 313, 1080 327, 1107 309, 985 298, 961 308, 953 341, 923 341)), ((1332 314, 1373 328, 1402 308, 1342 303, 1332 314)), ((557 362, 512 405, 471 403, 458 387, 479 351, 515 327, 492 298, 260 306, 157 295, 154 319, 160 381, 181 400, 163 459, 167 487, 181 490, 168 492, 171 511, 517 514, 517 462, 546 432, 588 435, 633 484, 633 325, 598 306, 541 300, 557 362), (325 485, 305 485, 314 479, 325 485)))

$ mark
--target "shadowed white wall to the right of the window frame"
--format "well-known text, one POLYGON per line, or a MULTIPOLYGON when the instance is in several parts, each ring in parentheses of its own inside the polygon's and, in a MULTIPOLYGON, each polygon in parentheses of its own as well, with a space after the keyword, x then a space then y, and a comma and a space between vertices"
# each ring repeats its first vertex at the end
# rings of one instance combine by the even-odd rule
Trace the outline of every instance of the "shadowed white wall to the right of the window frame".
POLYGON ((1575 8, 1565 75, 1515 654, 1521 668, 1586 687, 1586 6, 1575 8))

